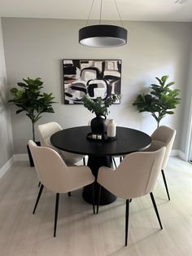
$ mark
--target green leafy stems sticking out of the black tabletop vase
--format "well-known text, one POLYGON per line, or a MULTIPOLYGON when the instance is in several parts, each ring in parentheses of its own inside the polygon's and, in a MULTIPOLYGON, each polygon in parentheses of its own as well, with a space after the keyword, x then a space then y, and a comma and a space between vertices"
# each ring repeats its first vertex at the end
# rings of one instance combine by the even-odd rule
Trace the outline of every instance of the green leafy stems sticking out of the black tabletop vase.
POLYGON ((95 113, 96 116, 106 116, 109 113, 108 108, 111 106, 111 104, 114 104, 117 99, 120 99, 120 95, 111 95, 105 100, 103 100, 101 97, 91 99, 89 96, 85 95, 81 101, 83 102, 85 108, 87 108, 90 112, 95 113))

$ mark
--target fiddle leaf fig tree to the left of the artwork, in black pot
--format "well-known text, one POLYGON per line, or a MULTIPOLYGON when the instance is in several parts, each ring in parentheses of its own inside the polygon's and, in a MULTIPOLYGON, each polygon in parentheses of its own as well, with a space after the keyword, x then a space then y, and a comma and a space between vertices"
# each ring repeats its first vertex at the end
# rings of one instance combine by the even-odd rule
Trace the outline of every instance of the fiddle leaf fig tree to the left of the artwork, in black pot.
MULTIPOLYGON (((26 116, 31 120, 33 141, 35 141, 35 123, 41 118, 42 113, 54 113, 52 104, 55 103, 53 101, 55 97, 52 96, 52 93, 41 93, 41 89, 43 88, 41 78, 31 79, 28 77, 27 79, 23 78, 23 81, 17 83, 21 88, 20 90, 16 87, 11 88, 10 92, 13 99, 9 99, 8 103, 15 104, 19 108, 16 110, 16 114, 24 111, 26 116)), ((29 152, 29 161, 31 166, 33 166, 33 160, 30 157, 29 152)))

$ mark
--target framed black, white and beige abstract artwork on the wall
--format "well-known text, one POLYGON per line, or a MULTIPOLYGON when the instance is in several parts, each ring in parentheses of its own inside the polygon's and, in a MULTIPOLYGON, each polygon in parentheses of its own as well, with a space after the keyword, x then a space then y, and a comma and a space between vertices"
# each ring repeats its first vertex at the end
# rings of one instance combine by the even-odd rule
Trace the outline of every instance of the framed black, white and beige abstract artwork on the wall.
MULTIPOLYGON (((120 94, 121 60, 63 60, 64 104, 120 94)), ((120 99, 116 101, 120 104, 120 99)))

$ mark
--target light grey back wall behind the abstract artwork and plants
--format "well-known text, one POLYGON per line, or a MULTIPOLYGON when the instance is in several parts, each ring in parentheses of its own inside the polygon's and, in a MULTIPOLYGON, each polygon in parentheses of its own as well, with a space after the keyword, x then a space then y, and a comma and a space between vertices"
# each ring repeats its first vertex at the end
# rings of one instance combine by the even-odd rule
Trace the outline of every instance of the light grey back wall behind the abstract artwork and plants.
MULTIPOLYGON (((55 114, 43 114, 38 124, 58 121, 63 127, 86 125, 93 116, 82 105, 64 105, 62 59, 121 59, 123 98, 111 106, 110 117, 118 126, 129 126, 151 134, 156 123, 149 113, 137 113, 133 100, 145 91, 155 77, 169 74, 170 81, 181 89, 182 104, 174 116, 165 117, 162 125, 177 130, 174 148, 180 148, 181 123, 189 64, 191 23, 124 22, 129 42, 119 48, 96 49, 78 43, 78 30, 83 20, 46 20, 3 18, 7 80, 15 86, 23 77, 41 77, 44 90, 53 92, 58 104, 55 114)), ((32 138, 30 121, 11 108, 14 152, 26 152, 32 138)))

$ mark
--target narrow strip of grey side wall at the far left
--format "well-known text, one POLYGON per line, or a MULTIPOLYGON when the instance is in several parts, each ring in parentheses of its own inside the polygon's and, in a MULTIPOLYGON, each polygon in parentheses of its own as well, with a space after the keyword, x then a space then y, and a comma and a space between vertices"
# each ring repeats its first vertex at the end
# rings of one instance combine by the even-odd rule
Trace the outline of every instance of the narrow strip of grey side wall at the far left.
POLYGON ((0 169, 12 157, 11 117, 7 108, 7 77, 0 19, 0 169))

